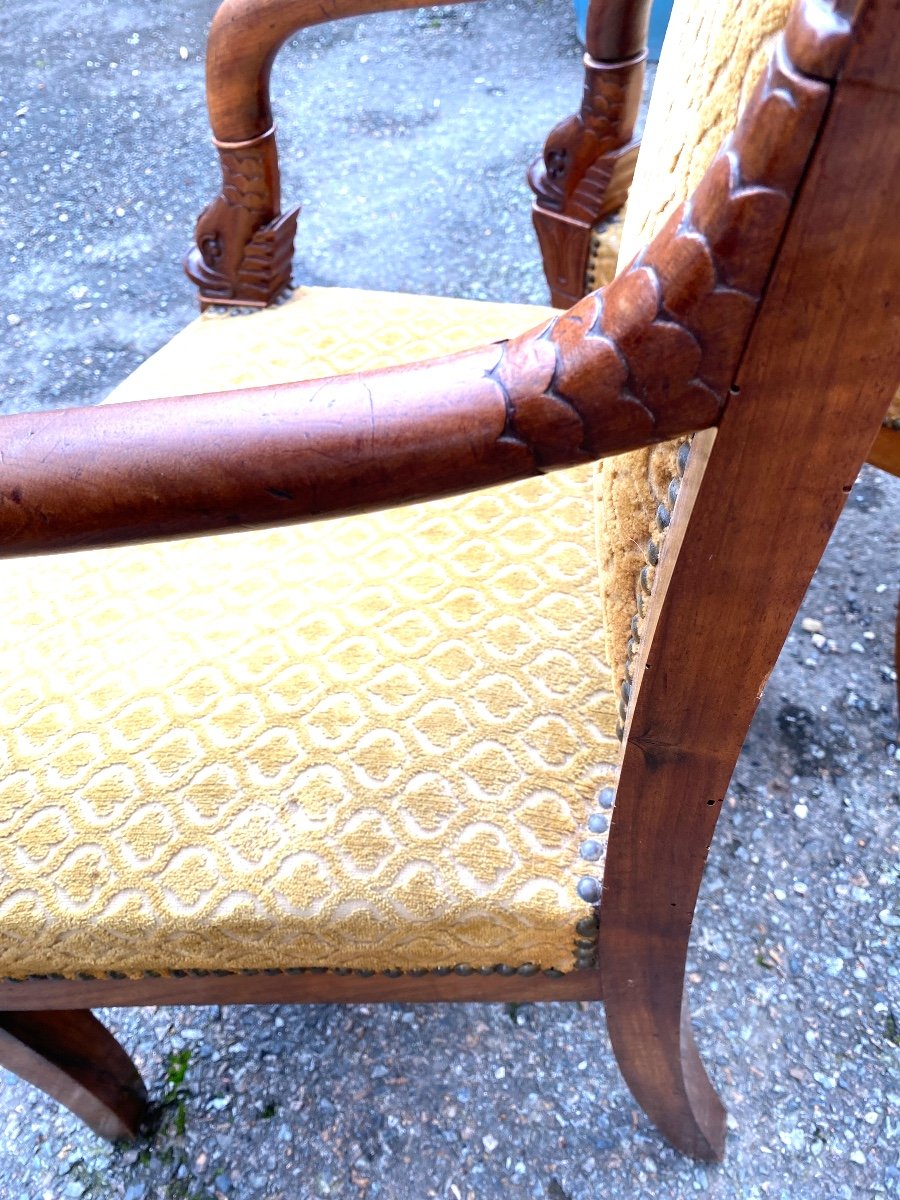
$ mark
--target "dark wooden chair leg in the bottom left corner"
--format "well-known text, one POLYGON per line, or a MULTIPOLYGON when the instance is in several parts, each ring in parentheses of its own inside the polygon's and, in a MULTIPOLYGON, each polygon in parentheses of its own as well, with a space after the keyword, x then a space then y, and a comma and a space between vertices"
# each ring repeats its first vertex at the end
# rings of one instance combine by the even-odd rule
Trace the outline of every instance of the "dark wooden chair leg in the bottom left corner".
POLYGON ((128 1055, 88 1009, 0 1013, 0 1066, 71 1109, 101 1138, 137 1135, 146 1090, 128 1055))

